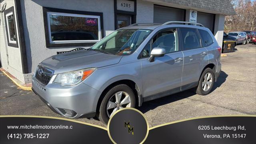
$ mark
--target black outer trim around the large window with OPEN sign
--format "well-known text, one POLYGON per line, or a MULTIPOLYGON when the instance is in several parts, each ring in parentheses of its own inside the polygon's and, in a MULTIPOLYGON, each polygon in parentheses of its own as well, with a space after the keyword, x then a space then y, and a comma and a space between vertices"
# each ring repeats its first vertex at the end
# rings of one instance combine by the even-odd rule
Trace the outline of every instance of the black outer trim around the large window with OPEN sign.
POLYGON ((102 12, 87 12, 87 11, 80 11, 80 10, 66 10, 60 8, 48 8, 42 7, 43 9, 43 17, 44 17, 44 34, 45 34, 45 41, 46 41, 46 48, 50 47, 64 47, 64 46, 92 46, 96 44, 96 42, 81 42, 81 43, 63 43, 63 44, 51 44, 49 40, 49 26, 48 26, 48 19, 47 19, 47 12, 60 12, 60 13, 68 13, 68 14, 83 14, 83 15, 94 15, 100 16, 100 32, 101 37, 104 37, 104 28, 103 28, 103 13, 102 12))

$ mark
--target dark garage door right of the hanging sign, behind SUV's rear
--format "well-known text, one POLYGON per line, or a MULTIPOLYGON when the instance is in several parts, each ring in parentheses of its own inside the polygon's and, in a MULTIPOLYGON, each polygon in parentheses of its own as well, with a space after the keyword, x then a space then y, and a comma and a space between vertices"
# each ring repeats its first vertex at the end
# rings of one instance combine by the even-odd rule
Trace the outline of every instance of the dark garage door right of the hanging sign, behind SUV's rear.
POLYGON ((206 28, 209 28, 212 33, 214 32, 214 14, 208 14, 203 12, 197 12, 197 20, 196 22, 204 25, 206 28))

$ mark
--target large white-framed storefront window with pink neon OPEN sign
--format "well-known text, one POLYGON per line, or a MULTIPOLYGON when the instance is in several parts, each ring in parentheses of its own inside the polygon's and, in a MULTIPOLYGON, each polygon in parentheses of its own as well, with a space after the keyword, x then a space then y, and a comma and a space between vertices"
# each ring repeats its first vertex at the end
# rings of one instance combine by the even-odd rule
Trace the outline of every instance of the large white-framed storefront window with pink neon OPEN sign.
POLYGON ((100 16, 48 12, 50 43, 97 42, 100 16))

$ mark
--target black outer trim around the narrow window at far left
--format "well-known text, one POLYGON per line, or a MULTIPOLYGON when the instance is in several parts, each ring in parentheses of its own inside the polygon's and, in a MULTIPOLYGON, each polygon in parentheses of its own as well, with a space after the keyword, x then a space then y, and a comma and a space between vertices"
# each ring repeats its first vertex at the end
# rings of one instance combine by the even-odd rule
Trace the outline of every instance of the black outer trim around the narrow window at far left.
POLYGON ((7 45, 8 46, 12 46, 14 48, 18 48, 18 37, 17 37, 17 29, 16 29, 16 19, 15 19, 15 14, 16 12, 14 12, 14 7, 10 7, 6 10, 4 10, 4 22, 5 22, 5 30, 6 30, 6 37, 7 37, 7 45), (13 15, 13 22, 14 22, 14 32, 15 32, 15 35, 16 35, 16 43, 12 43, 10 42, 9 40, 9 32, 8 32, 8 25, 7 25, 7 20, 6 20, 6 14, 8 13, 11 13, 12 12, 12 15, 13 15))

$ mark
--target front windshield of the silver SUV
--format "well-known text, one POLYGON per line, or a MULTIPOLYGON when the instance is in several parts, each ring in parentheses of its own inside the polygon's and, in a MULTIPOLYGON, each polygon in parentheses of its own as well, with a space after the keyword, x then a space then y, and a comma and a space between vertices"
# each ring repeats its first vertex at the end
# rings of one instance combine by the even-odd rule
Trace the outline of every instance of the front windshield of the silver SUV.
POLYGON ((130 55, 148 37, 152 30, 148 29, 122 29, 100 40, 90 50, 100 51, 114 55, 130 55))

